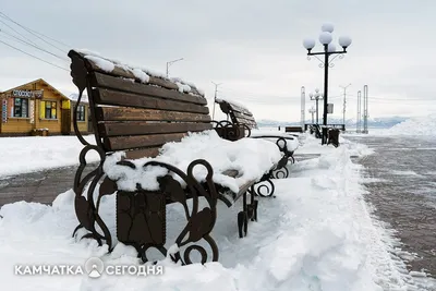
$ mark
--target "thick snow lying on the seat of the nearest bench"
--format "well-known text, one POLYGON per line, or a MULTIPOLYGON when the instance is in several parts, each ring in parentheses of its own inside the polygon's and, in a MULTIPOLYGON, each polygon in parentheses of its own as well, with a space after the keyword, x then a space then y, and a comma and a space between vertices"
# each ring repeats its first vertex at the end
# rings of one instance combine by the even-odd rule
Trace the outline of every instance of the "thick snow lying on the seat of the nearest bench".
MULTIPOLYGON (((278 147, 269 141, 242 138, 230 142, 220 138, 215 131, 190 133, 179 143, 167 143, 156 158, 130 160, 136 169, 117 165, 123 156, 123 151, 108 156, 104 165, 104 171, 123 191, 135 191, 137 183, 144 190, 158 190, 157 178, 167 174, 167 170, 161 167, 144 169, 147 161, 166 162, 186 171, 193 160, 205 159, 214 169, 214 182, 238 193, 242 185, 258 181, 281 159, 278 147), (225 173, 229 170, 237 170, 239 174, 229 177, 225 173)), ((199 182, 204 181, 206 169, 195 167, 194 177, 199 182)), ((184 185, 178 175, 173 178, 184 185)))

